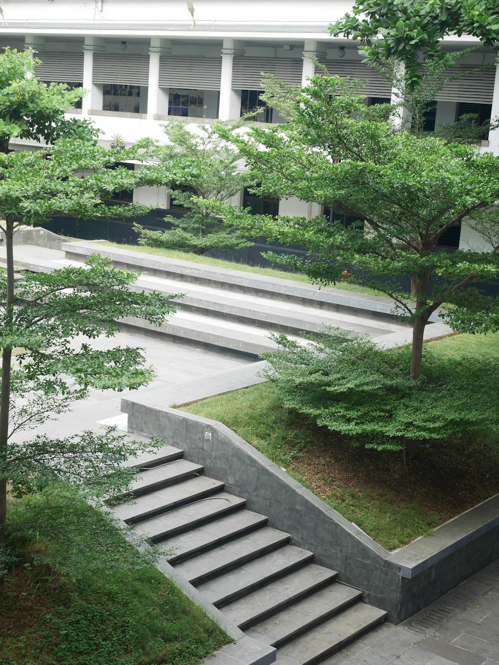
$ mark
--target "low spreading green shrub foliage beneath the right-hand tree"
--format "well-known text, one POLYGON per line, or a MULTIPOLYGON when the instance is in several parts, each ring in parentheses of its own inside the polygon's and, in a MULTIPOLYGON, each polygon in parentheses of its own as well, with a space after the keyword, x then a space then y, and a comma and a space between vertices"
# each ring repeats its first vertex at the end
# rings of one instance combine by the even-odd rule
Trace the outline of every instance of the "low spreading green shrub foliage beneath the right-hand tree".
POLYGON ((383 350, 369 338, 348 340, 336 331, 284 335, 264 354, 282 403, 353 444, 401 450, 404 440, 429 441, 484 430, 498 432, 499 362, 451 358, 425 349, 419 381, 407 376, 410 349, 383 350))

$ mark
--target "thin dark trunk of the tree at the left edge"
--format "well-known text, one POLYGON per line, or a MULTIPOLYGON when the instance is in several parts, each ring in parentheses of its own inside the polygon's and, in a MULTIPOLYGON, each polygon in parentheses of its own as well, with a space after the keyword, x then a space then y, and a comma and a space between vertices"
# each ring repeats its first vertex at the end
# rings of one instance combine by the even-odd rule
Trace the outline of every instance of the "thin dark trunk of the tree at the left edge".
MULTIPOLYGON (((5 303, 5 324, 13 317, 14 304, 14 257, 13 257, 14 222, 7 217, 5 222, 5 249, 7 252, 7 302, 5 303)), ((11 362, 12 348, 2 349, 1 397, 0 397, 0 459, 7 459, 7 441, 9 437, 9 404, 11 398, 11 362)), ((5 520, 7 517, 7 479, 0 479, 0 549, 5 545, 5 520)), ((5 596, 4 576, 0 576, 0 599, 5 596)))

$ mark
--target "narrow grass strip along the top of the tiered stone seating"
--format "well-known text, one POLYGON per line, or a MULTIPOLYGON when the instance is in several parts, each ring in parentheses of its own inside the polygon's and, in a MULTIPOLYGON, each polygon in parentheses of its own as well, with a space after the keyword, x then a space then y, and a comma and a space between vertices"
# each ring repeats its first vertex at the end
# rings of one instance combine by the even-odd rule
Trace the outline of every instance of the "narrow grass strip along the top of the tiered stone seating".
MULTIPOLYGON (((107 240, 99 241, 100 245, 108 245, 108 247, 118 247, 120 249, 130 249, 131 251, 139 251, 144 254, 152 254, 154 256, 164 256, 168 259, 181 259, 182 261, 193 261, 193 263, 203 263, 204 265, 215 265, 220 268, 227 268, 229 270, 240 270, 243 273, 255 273, 256 275, 267 275, 268 277, 280 277, 281 279, 292 279, 295 282, 304 282, 312 284, 312 280, 302 273, 288 273, 283 270, 276 270, 274 268, 262 268, 255 265, 247 265, 246 263, 237 263, 236 261, 225 261, 224 259, 214 259, 209 256, 199 256, 191 252, 178 251, 177 249, 162 249, 160 247, 144 247, 143 245, 121 245, 120 243, 112 243, 107 240)), ((374 289, 367 289, 351 282, 343 283, 338 282, 334 285, 334 289, 342 289, 342 291, 355 291, 355 293, 367 293, 367 295, 376 295, 386 298, 385 293, 375 291, 374 289)))

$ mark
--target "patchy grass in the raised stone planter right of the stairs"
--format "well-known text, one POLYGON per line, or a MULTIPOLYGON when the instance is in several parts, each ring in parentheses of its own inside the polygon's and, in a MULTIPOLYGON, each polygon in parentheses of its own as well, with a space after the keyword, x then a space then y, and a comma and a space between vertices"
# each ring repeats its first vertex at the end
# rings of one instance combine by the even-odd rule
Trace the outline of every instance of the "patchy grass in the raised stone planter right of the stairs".
MULTIPOLYGON (((430 343, 455 356, 499 353, 499 334, 430 343)), ((401 454, 353 448, 345 437, 284 410, 268 383, 182 408, 223 422, 387 549, 499 492, 499 446, 486 436, 421 446, 408 477, 401 454)))

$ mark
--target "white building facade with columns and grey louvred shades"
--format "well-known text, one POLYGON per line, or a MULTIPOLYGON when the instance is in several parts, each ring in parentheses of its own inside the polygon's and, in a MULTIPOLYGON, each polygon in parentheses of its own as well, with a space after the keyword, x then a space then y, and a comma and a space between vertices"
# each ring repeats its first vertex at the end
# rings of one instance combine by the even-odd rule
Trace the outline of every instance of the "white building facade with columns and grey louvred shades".
MULTIPOLYGON (((349 10, 348 1, 193 0, 193 8, 191 17, 186 0, 9 0, 0 17, 1 46, 37 51, 41 80, 85 88, 81 108, 69 115, 93 120, 104 144, 117 134, 126 142, 144 136, 161 140, 161 124, 171 116, 193 122, 203 116, 239 118, 260 106, 260 72, 299 86, 314 74, 307 55, 333 74, 368 79, 367 103, 392 96, 389 84, 361 63, 355 43, 328 34, 328 25, 349 10)), ((428 128, 463 113, 476 113, 480 120, 499 116, 497 53, 476 39, 447 43, 450 50, 476 49, 459 67, 490 66, 450 82, 437 97, 428 128)), ((270 108, 257 119, 281 120, 270 108)), ((499 154, 499 130, 479 149, 499 154)), ((133 196, 168 207, 161 188, 142 188, 133 196)), ((242 203, 243 196, 235 202, 242 203)), ((323 212, 294 199, 278 205, 282 214, 323 212)), ((457 246, 455 238, 449 242, 457 246)), ((476 247, 480 239, 463 227, 458 242, 476 247)))

